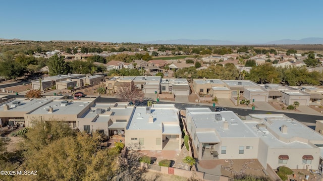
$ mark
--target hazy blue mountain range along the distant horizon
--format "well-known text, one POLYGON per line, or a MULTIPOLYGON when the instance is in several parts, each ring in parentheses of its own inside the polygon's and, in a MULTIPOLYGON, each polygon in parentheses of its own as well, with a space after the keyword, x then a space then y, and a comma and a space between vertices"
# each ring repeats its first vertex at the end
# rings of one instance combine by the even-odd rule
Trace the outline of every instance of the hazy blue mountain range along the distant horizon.
MULTIPOLYGON (((18 38, 14 39, 4 39, 0 38, 0 41, 33 41, 33 40, 21 40, 18 38)), ((91 40, 52 40, 55 41, 80 41, 80 42, 97 42, 91 40)), ((106 41, 104 41, 106 42, 106 41)), ((211 39, 175 39, 175 40, 155 40, 155 41, 144 41, 138 42, 143 44, 185 44, 185 45, 283 45, 283 44, 323 44, 323 38, 303 38, 300 40, 283 39, 276 41, 268 41, 264 43, 252 43, 252 42, 236 42, 227 40, 211 40, 211 39)))

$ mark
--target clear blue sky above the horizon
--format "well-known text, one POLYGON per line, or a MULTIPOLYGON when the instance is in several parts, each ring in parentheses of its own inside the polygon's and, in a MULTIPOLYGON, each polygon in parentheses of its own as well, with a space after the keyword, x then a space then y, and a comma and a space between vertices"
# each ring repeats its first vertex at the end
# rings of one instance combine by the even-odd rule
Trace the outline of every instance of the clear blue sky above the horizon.
POLYGON ((2 1, 0 38, 263 43, 323 37, 323 1, 2 1))

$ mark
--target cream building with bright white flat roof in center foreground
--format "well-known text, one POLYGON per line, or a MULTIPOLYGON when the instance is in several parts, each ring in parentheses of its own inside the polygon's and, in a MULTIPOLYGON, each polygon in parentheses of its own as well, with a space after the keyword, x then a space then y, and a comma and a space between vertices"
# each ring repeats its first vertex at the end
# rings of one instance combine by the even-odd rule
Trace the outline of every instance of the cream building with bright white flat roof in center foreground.
POLYGON ((129 149, 181 150, 179 110, 174 104, 136 107, 125 130, 129 149))

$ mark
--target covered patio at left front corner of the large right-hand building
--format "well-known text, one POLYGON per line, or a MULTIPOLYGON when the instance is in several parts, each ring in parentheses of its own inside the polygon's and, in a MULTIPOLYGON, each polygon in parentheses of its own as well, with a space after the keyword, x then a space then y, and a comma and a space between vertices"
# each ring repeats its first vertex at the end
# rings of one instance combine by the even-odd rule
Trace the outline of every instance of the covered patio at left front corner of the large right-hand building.
POLYGON ((216 149, 220 143, 219 137, 214 132, 196 132, 198 139, 198 158, 201 160, 212 160, 219 158, 219 152, 216 149))

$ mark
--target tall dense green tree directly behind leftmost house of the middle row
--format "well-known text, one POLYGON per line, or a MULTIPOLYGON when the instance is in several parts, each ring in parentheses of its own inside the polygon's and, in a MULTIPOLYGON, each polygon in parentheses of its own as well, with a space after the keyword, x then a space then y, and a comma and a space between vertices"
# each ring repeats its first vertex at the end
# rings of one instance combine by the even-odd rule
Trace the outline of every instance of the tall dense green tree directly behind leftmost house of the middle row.
POLYGON ((49 75, 67 74, 69 72, 69 67, 64 61, 63 56, 58 56, 57 54, 52 55, 46 65, 49 69, 49 75))

